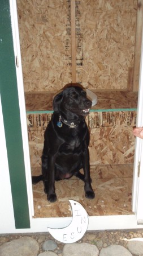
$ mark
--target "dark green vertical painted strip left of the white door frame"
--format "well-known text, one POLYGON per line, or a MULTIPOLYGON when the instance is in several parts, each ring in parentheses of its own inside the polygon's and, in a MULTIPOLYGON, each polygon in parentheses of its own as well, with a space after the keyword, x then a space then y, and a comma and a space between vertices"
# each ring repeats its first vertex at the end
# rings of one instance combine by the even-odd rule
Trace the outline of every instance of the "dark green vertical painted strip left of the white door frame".
POLYGON ((1 0, 0 3, 0 93, 15 226, 16 229, 30 228, 10 3, 8 0, 1 0))

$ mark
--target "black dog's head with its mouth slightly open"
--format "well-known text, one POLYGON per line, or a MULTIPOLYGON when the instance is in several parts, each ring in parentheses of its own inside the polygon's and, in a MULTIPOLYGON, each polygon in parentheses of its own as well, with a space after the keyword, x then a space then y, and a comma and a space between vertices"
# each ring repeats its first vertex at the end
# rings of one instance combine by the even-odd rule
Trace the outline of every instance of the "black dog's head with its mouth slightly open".
POLYGON ((86 92, 80 84, 67 84, 62 92, 53 100, 53 109, 56 112, 71 112, 77 115, 87 115, 92 101, 86 97, 86 92))

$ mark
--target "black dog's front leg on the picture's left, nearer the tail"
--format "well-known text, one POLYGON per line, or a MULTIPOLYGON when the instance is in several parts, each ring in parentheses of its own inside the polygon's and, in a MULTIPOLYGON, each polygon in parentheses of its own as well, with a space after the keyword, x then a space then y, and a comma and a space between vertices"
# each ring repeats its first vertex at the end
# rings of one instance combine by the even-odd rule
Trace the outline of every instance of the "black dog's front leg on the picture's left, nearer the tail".
POLYGON ((47 200, 54 203, 57 200, 55 193, 55 156, 42 155, 42 174, 44 176, 44 191, 47 200))

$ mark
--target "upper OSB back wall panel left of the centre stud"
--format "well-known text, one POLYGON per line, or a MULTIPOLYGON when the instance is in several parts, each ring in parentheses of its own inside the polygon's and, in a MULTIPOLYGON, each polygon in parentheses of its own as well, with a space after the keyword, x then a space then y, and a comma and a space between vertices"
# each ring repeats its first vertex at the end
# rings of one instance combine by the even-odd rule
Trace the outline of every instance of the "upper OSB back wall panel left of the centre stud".
POLYGON ((18 0, 24 90, 59 90, 71 82, 69 3, 18 0))

